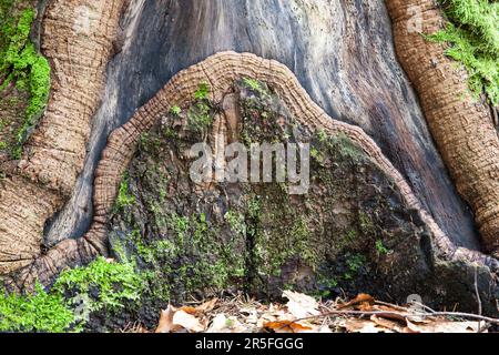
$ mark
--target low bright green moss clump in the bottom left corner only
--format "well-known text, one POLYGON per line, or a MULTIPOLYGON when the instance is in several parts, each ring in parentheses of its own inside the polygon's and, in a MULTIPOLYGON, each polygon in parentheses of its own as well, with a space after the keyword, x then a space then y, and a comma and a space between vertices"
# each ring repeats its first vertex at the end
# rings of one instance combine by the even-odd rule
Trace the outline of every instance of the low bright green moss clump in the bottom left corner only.
POLYGON ((67 332, 74 324, 73 311, 59 293, 47 293, 40 284, 28 295, 0 290, 0 332, 67 332))

